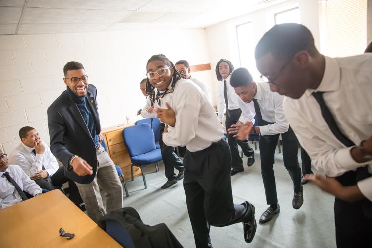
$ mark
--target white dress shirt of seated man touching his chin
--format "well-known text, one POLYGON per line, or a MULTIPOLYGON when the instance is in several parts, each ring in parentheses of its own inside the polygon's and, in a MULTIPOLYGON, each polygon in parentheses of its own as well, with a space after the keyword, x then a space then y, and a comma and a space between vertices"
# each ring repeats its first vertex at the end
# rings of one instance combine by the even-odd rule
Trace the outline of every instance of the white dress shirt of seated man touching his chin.
POLYGON ((48 176, 52 176, 58 170, 59 165, 49 146, 44 141, 41 142, 45 146, 45 151, 41 154, 36 153, 36 156, 32 153, 34 148, 30 148, 21 142, 11 152, 9 164, 19 165, 28 176, 33 176, 37 171, 41 171, 44 165, 48 176))

